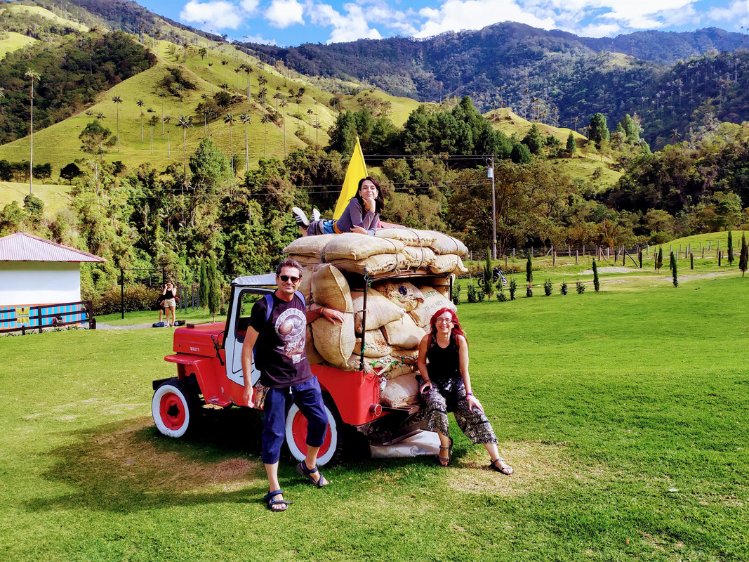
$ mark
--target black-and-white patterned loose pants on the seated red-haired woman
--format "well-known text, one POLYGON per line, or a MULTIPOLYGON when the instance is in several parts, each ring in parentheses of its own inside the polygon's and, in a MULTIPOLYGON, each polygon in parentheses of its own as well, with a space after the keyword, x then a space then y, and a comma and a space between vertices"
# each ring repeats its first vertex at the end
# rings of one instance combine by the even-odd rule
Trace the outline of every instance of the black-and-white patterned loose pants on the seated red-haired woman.
MULTIPOLYGON (((470 411, 466 399, 466 389, 461 378, 453 378, 452 384, 457 385, 457 405, 455 406, 455 421, 458 427, 470 439, 471 443, 497 443, 494 429, 484 412, 470 411)), ((422 429, 429 432, 440 432, 450 436, 447 421, 447 401, 434 384, 427 394, 422 394, 425 403, 424 422, 422 429)))

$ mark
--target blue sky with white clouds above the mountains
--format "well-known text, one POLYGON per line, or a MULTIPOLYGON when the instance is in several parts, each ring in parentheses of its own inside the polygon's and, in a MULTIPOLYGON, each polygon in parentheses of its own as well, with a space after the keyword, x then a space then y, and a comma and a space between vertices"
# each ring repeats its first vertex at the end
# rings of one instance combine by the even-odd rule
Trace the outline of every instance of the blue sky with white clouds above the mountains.
POLYGON ((230 40, 297 46, 431 37, 512 21, 583 37, 655 29, 749 31, 749 0, 136 0, 230 40))

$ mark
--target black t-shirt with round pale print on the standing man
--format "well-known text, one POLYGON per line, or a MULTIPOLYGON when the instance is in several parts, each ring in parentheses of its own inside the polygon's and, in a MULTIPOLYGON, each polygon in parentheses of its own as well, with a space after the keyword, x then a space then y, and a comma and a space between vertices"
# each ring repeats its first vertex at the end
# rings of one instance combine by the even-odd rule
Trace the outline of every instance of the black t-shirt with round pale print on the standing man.
POLYGON ((267 304, 264 298, 252 306, 249 325, 260 334, 255 345, 255 364, 264 387, 290 387, 312 378, 312 370, 304 350, 307 316, 297 294, 291 301, 273 294, 273 311, 265 321, 267 304))

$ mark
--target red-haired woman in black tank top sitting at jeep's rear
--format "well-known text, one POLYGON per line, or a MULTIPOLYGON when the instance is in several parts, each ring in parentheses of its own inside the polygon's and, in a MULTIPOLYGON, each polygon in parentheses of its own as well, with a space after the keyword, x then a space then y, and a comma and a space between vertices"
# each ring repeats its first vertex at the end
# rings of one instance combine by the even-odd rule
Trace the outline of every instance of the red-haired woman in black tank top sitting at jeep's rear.
MULTIPOLYGON (((468 374, 468 342, 458 316, 449 308, 437 310, 431 317, 431 331, 419 343, 419 394, 425 402, 424 425, 440 436, 440 465, 447 466, 452 455, 447 412, 455 412, 455 421, 472 443, 486 447, 489 467, 508 476, 512 467, 500 458, 497 437, 484 408, 473 396, 468 374)), ((419 377, 417 377, 418 379, 419 377)))

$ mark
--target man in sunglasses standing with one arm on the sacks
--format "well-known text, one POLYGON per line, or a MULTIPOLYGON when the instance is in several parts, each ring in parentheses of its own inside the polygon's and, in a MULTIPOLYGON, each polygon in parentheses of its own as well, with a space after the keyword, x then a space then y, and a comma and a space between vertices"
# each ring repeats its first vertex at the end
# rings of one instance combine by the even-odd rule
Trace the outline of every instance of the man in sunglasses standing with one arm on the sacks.
POLYGON ((276 268, 276 292, 270 303, 262 298, 252 306, 249 326, 242 346, 244 400, 252 408, 252 360, 260 371, 260 383, 267 394, 263 406, 263 463, 268 475, 269 492, 264 497, 272 511, 283 511, 285 501, 279 486, 278 469, 286 423, 286 400, 289 396, 307 418, 307 456, 297 471, 321 488, 328 481, 318 471, 318 451, 327 430, 327 414, 318 378, 312 374, 304 349, 307 324, 324 316, 331 322, 343 321, 343 313, 327 308, 307 310, 304 297, 297 291, 302 267, 291 258, 276 268), (256 356, 253 348, 257 345, 256 356))

